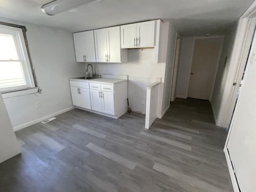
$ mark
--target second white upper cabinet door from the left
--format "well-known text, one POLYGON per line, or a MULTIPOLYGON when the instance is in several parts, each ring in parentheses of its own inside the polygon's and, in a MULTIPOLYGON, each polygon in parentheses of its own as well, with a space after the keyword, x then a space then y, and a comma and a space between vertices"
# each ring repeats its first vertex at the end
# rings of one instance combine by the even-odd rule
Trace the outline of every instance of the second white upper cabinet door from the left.
POLYGON ((85 42, 85 56, 86 62, 96 62, 95 44, 94 44, 94 32, 85 31, 84 42, 85 42))

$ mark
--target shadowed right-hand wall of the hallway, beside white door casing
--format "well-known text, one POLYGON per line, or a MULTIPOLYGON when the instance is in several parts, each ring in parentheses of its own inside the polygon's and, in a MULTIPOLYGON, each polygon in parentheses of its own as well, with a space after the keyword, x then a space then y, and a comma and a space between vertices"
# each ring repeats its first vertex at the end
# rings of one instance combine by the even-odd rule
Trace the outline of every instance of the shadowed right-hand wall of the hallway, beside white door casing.
POLYGON ((211 100, 215 120, 218 118, 219 115, 220 104, 224 93, 224 86, 227 80, 228 68, 230 66, 230 57, 232 54, 234 40, 236 37, 236 27, 236 25, 233 26, 224 37, 222 54, 220 56, 218 72, 211 100), (228 58, 225 65, 226 56, 228 58))

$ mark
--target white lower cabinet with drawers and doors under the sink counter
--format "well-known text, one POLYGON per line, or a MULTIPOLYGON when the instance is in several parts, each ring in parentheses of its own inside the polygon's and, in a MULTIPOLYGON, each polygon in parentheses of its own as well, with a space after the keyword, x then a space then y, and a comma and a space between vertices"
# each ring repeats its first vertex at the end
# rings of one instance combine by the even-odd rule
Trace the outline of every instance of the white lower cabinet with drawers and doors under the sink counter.
POLYGON ((112 118, 127 112, 127 82, 99 84, 70 80, 73 105, 112 118))

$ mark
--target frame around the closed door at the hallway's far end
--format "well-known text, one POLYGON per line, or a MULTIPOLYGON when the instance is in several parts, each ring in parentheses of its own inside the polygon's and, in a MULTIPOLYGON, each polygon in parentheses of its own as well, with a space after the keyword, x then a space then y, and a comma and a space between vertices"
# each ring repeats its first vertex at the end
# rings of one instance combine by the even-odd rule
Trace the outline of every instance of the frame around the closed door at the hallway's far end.
MULTIPOLYGON (((215 74, 214 74, 214 83, 216 81, 216 76, 217 76, 217 72, 218 72, 218 67, 219 67, 219 63, 220 63, 220 56, 221 56, 221 53, 222 53, 222 47, 223 47, 223 41, 224 41, 224 35, 216 35, 216 36, 199 36, 199 37, 194 37, 193 39, 193 49, 192 49, 192 57, 190 59, 190 66, 189 66, 189 73, 187 74, 189 77, 190 77, 190 73, 191 73, 191 68, 192 68, 192 63, 193 63, 193 58, 194 58, 194 48, 195 48, 195 40, 197 39, 211 39, 211 38, 222 38, 222 44, 221 44, 221 48, 220 48, 220 52, 218 54, 218 63, 216 65, 216 69, 215 69, 215 74)), ((188 82, 187 82, 187 89, 186 89, 186 98, 188 98, 188 88, 189 88, 189 82, 190 82, 190 78, 188 78, 188 82)), ((211 96, 210 96, 210 100, 212 100, 212 93, 213 93, 213 90, 214 90, 214 85, 212 86, 212 91, 211 91, 211 96)))

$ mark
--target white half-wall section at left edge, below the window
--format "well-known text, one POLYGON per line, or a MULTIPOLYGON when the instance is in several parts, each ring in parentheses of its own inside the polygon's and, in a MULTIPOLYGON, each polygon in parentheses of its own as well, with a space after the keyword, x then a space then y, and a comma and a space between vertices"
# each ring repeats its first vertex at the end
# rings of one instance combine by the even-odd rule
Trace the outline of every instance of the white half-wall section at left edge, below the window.
POLYGON ((20 146, 12 129, 0 92, 0 163, 20 153, 20 146))

